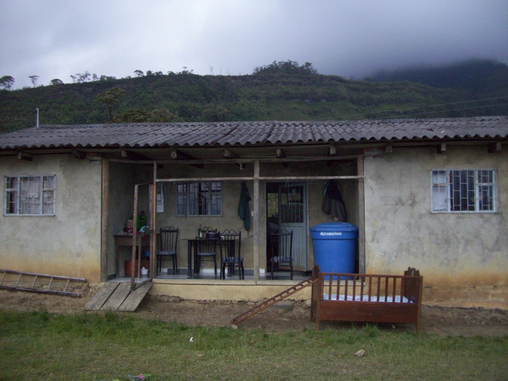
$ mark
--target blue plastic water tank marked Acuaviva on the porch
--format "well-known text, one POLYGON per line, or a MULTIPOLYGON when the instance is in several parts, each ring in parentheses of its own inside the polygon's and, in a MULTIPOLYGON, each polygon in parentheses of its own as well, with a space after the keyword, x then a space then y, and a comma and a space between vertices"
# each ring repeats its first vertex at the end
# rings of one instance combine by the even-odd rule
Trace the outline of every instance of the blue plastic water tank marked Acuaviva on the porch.
POLYGON ((314 263, 322 272, 354 273, 358 227, 343 222, 327 222, 310 228, 314 263))

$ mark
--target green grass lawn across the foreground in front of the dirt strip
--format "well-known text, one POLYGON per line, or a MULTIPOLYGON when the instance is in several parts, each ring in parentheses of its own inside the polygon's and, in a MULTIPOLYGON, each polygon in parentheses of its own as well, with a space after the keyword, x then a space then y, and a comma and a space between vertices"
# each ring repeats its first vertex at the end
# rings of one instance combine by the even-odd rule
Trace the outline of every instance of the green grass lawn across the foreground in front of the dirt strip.
POLYGON ((265 332, 110 312, 0 311, 1 380, 506 380, 508 337, 265 332), (189 339, 193 337, 193 342, 189 339), (354 354, 364 350, 363 357, 354 354))

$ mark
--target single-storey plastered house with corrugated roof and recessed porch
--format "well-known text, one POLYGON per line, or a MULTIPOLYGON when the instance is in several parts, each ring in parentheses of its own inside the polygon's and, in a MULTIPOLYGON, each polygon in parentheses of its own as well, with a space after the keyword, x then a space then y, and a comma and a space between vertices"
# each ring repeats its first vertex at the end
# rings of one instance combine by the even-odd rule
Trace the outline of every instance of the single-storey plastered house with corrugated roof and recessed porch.
POLYGON ((117 251, 115 235, 143 211, 153 229, 144 251, 160 228, 179 229, 178 274, 171 261, 159 274, 150 254, 151 293, 269 297, 312 268, 309 228, 334 220, 322 210, 333 180, 358 227, 356 271, 416 267, 424 303, 508 308, 506 116, 38 125, 0 136, 0 173, 0 268, 125 276, 132 248, 117 251), (270 224, 294 232, 294 280, 284 267, 267 279, 270 224), (200 226, 241 231, 245 279, 221 280, 211 263, 188 276, 186 240, 200 226))

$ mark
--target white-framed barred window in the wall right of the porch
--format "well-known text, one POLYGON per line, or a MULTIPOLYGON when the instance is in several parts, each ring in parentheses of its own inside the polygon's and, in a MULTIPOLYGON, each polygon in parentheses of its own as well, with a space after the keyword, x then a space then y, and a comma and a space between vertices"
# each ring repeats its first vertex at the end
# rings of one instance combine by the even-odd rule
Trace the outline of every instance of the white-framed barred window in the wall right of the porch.
POLYGON ((432 212, 495 212, 493 169, 431 171, 432 212))

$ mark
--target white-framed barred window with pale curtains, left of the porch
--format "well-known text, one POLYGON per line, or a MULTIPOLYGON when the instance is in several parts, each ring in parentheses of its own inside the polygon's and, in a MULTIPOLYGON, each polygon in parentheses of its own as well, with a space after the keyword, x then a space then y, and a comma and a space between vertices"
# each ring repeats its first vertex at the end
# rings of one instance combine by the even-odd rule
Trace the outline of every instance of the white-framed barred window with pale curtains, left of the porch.
POLYGON ((56 176, 5 176, 5 215, 54 215, 56 176))

